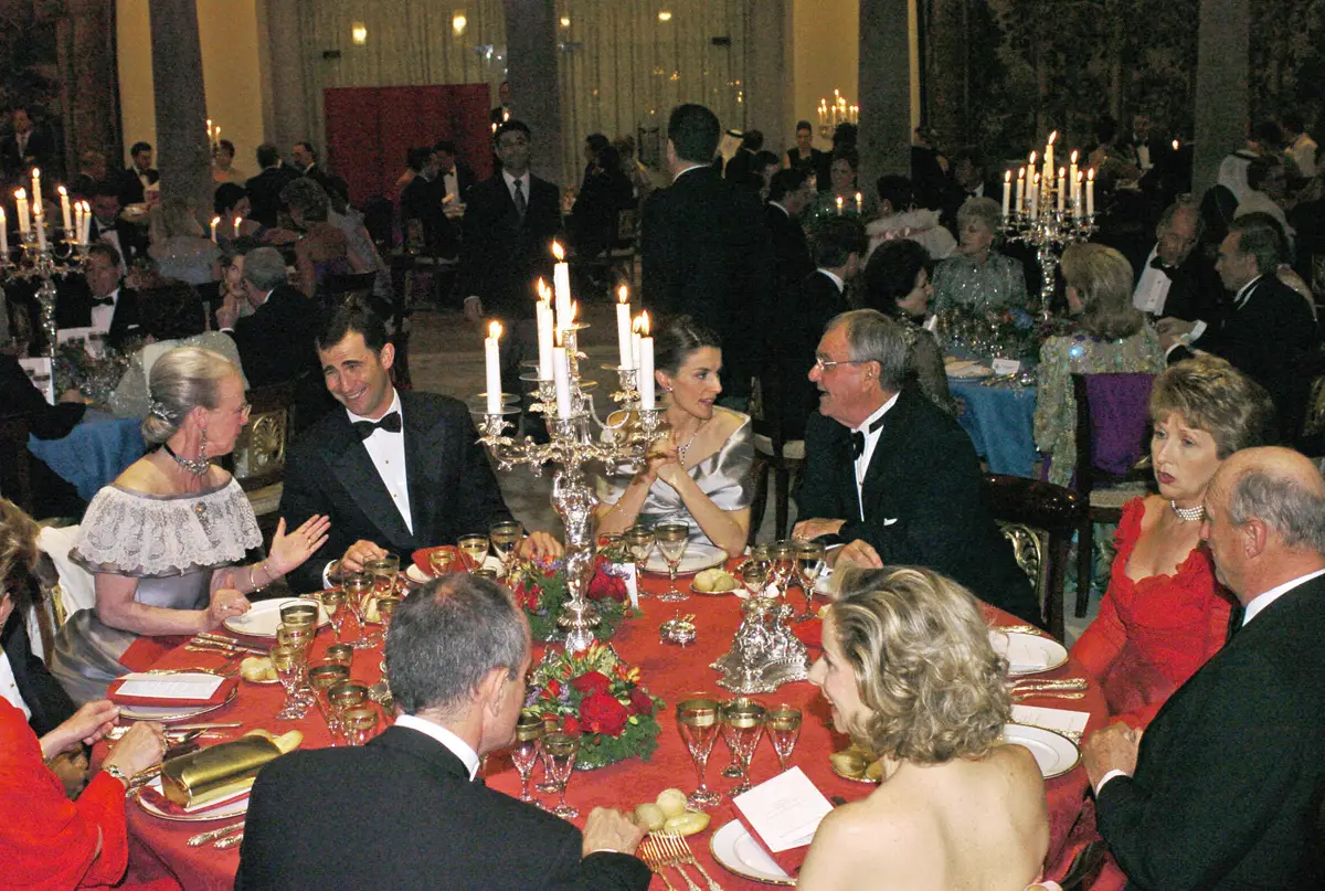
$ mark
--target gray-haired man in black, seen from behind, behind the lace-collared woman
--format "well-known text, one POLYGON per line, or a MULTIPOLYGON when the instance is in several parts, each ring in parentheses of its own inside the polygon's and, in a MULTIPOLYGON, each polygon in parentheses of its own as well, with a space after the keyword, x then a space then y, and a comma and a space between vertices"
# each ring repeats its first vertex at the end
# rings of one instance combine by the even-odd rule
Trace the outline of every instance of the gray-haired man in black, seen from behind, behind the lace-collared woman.
POLYGON ((238 300, 231 296, 216 310, 216 321, 235 338, 249 386, 293 381, 305 371, 317 378, 313 330, 318 309, 289 284, 280 251, 258 248, 244 257, 244 292, 253 314, 240 318, 238 300))

